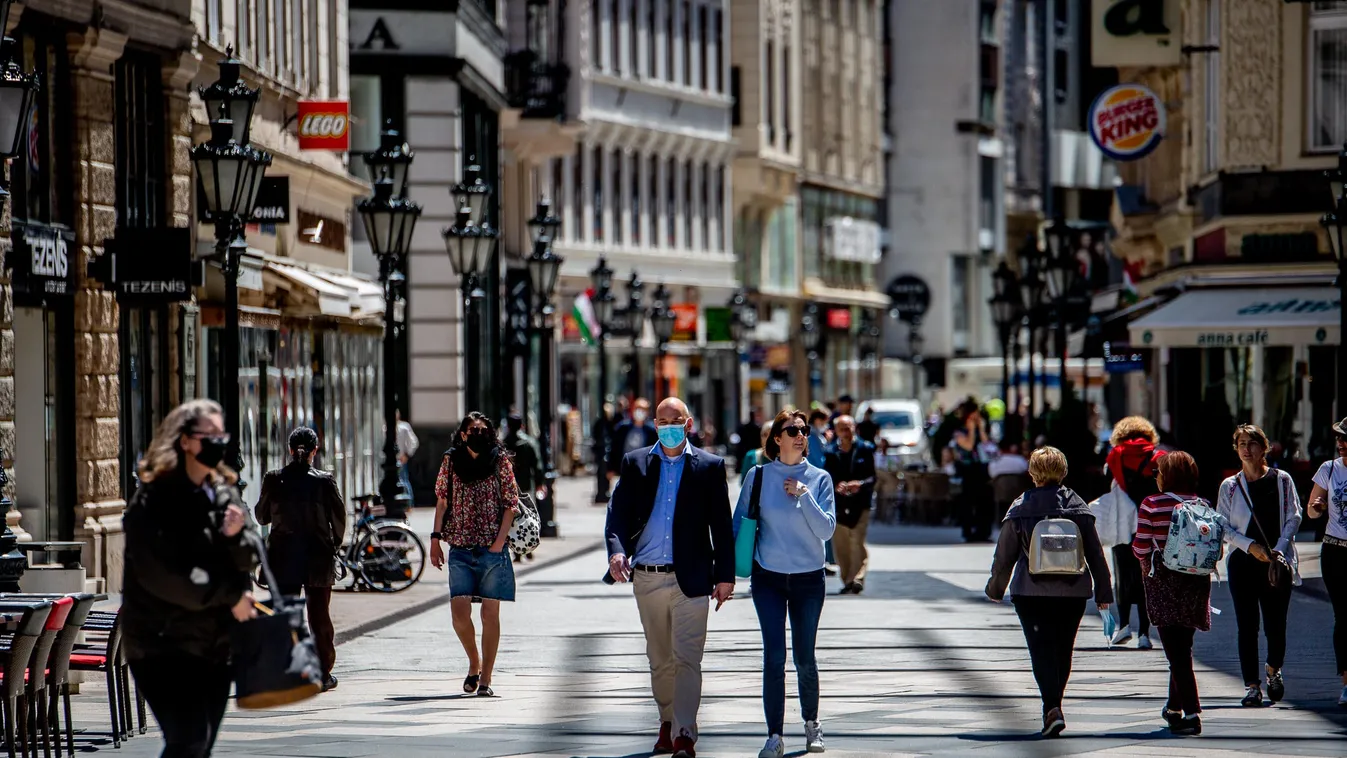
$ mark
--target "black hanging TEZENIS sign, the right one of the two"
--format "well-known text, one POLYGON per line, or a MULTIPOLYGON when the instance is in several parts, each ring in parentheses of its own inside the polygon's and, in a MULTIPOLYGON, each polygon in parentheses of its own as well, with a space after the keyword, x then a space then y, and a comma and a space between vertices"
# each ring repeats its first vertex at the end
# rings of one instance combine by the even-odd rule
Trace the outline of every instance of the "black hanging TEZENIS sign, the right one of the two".
POLYGON ((117 229, 102 250, 89 261, 89 276, 121 303, 190 300, 193 287, 203 283, 203 261, 191 257, 189 229, 117 229))

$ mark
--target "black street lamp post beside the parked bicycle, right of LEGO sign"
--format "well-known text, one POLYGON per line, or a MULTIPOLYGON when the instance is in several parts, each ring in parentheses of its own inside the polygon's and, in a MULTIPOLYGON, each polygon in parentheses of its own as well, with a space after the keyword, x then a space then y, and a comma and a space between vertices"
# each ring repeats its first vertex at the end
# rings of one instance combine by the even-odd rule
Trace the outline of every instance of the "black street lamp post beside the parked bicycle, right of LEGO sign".
POLYGON ((379 497, 393 513, 407 513, 409 494, 397 477, 397 271, 412 245, 412 230, 420 217, 419 205, 407 199, 405 175, 412 152, 392 128, 384 129, 380 148, 365 153, 365 166, 374 195, 361 201, 358 210, 365 236, 379 259, 379 281, 384 287, 384 478, 379 497))

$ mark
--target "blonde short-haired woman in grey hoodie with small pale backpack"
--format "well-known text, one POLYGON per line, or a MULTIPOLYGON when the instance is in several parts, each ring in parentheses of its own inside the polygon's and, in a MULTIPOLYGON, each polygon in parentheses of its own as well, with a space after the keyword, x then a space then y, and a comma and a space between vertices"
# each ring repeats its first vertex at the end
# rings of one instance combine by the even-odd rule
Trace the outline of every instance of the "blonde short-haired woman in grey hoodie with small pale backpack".
POLYGON ((1029 456, 1033 489, 1006 512, 986 588, 994 602, 1010 590, 1043 697, 1043 736, 1067 728, 1061 699, 1086 600, 1094 596, 1100 611, 1113 602, 1094 516, 1080 495, 1061 486, 1065 477, 1060 450, 1040 447, 1029 456))

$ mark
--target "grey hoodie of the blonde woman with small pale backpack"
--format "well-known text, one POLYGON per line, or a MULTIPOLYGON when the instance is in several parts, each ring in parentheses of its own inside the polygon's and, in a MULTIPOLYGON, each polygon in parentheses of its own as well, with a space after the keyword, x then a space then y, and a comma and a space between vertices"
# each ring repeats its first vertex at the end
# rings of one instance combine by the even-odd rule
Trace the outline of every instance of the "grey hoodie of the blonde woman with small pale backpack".
POLYGON ((1109 564, 1103 559, 1103 547, 1094 528, 1090 506, 1068 487, 1051 485, 1032 487, 1016 498, 1001 524, 1001 539, 991 560, 991 579, 987 580, 987 596, 993 600, 1005 598, 1006 586, 1012 595, 1037 598, 1088 598, 1095 603, 1113 602, 1113 580, 1109 578, 1109 564), (1033 536, 1033 528, 1044 518, 1070 518, 1080 528, 1084 539, 1086 568, 1080 576, 1033 576, 1029 574, 1029 553, 1026 545, 1033 536), (1012 578, 1012 571, 1014 576, 1012 578), (1091 586, 1092 584, 1092 586, 1091 586))

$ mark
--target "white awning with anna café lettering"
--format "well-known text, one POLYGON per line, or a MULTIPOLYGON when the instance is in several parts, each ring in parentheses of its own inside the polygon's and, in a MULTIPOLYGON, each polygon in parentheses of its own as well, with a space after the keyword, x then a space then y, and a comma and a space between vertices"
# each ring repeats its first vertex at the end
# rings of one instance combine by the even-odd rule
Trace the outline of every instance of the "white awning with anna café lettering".
POLYGON ((1332 287, 1192 289, 1127 329, 1137 347, 1338 345, 1332 287))

